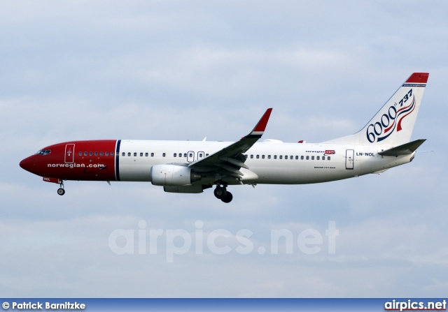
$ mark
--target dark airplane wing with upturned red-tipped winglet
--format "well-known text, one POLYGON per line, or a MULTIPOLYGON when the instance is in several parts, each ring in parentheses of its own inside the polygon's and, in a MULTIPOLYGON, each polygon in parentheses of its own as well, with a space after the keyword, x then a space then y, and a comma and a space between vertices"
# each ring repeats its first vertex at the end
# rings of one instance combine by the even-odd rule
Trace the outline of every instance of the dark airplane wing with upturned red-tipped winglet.
POLYGON ((265 132, 267 121, 271 115, 272 108, 268 108, 261 117, 258 124, 253 128, 253 131, 244 136, 238 142, 230 144, 228 147, 217 151, 205 158, 190 163, 188 167, 195 170, 195 172, 201 172, 203 176, 215 177, 216 180, 221 180, 223 177, 233 177, 241 181, 241 177, 254 176, 256 174, 248 171, 248 166, 244 164, 246 156, 244 153, 252 147, 258 139, 261 138, 265 132), (241 168, 245 173, 241 172, 241 168))

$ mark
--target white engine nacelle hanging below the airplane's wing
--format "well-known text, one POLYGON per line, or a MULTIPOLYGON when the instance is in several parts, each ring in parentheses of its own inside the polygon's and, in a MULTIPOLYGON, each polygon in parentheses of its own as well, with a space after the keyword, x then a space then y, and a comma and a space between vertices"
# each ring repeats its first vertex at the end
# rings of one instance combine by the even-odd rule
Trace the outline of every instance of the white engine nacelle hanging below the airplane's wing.
POLYGON ((188 186, 202 179, 201 174, 182 165, 153 165, 151 183, 158 186, 188 186))

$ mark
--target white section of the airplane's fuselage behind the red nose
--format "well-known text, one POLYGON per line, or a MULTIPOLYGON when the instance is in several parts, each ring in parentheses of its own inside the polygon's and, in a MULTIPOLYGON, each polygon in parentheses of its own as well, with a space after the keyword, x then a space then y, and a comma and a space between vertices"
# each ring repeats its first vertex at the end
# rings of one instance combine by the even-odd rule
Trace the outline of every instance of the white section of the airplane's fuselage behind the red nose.
MULTIPOLYGON (((153 165, 193 163, 230 144, 232 142, 122 140, 118 157, 120 181, 151 181, 153 165)), ((245 153, 245 164, 250 172, 242 170, 246 177, 241 181, 244 184, 320 183, 381 172, 409 163, 414 158, 414 153, 398 157, 381 156, 378 152, 383 149, 386 148, 259 142, 245 153)), ((210 182, 213 183, 212 180, 210 182)))

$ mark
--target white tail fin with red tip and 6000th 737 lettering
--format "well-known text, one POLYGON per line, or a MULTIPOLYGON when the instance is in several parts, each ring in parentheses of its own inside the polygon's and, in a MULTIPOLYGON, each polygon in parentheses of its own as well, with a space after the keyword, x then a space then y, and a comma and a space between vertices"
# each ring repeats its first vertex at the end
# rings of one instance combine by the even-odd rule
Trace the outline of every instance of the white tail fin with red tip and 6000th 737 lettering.
POLYGON ((409 142, 428 76, 413 73, 363 129, 324 143, 396 147, 409 142))

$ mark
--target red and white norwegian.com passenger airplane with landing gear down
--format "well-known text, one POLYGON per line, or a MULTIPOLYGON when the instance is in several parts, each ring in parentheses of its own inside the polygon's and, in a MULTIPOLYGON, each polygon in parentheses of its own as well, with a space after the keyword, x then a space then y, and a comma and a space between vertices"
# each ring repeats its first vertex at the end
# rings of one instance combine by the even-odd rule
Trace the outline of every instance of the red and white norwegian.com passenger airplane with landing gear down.
POLYGON ((20 167, 59 184, 64 181, 151 181, 169 193, 202 193, 231 202, 228 186, 311 184, 379 174, 414 159, 426 140, 410 141, 428 81, 413 73, 357 133, 321 143, 258 142, 272 108, 237 142, 83 140, 40 149, 20 167))

